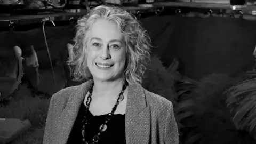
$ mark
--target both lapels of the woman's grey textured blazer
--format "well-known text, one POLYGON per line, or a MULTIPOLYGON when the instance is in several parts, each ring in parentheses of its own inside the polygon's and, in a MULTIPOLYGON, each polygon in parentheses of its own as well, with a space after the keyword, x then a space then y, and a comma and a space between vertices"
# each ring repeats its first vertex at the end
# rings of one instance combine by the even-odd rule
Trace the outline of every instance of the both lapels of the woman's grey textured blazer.
MULTIPOLYGON (((85 94, 89 91, 92 80, 77 86, 71 92, 65 109, 59 116, 61 127, 58 143, 66 143, 74 125, 79 108, 84 101, 85 94)), ((147 106, 146 95, 140 84, 127 87, 128 97, 125 112, 126 143, 148 143, 150 133, 150 109, 147 106), (140 139, 136 139, 140 135, 140 139)))

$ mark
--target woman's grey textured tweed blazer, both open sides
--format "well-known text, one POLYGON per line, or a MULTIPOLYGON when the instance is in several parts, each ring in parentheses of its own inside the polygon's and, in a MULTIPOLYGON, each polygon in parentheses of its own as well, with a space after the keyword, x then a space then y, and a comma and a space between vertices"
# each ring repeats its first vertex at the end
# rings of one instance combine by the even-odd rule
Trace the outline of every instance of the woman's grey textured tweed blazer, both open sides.
MULTIPOLYGON (((67 143, 92 80, 55 93, 50 101, 43 144, 67 143)), ((127 87, 125 139, 127 144, 179 143, 172 103, 139 84, 127 87)))

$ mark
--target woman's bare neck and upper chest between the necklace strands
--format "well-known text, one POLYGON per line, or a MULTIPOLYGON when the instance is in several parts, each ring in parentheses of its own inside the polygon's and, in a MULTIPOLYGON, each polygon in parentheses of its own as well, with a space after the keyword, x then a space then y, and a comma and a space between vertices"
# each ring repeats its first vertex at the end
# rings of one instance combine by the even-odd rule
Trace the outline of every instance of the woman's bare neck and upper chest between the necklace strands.
POLYGON ((93 80, 93 93, 96 97, 118 97, 124 85, 124 78, 116 79, 111 82, 93 80))

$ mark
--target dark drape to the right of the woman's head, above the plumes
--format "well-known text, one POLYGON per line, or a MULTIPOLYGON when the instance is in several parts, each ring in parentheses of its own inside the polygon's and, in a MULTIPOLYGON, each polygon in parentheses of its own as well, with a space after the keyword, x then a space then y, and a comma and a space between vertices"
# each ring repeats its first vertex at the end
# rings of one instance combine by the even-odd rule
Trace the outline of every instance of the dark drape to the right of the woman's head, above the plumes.
POLYGON ((256 45, 255 22, 232 18, 152 17, 141 20, 149 31, 154 53, 165 66, 173 57, 183 73, 199 79, 211 73, 237 75, 251 70, 256 45))

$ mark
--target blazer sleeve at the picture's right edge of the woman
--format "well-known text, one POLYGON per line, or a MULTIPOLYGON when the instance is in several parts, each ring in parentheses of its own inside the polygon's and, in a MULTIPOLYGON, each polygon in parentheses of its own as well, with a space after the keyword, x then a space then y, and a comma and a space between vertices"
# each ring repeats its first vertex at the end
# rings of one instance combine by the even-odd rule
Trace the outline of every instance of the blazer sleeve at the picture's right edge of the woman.
POLYGON ((167 117, 165 121, 165 134, 164 134, 164 143, 178 144, 179 143, 179 132, 178 126, 175 121, 173 106, 170 103, 167 110, 167 117))

